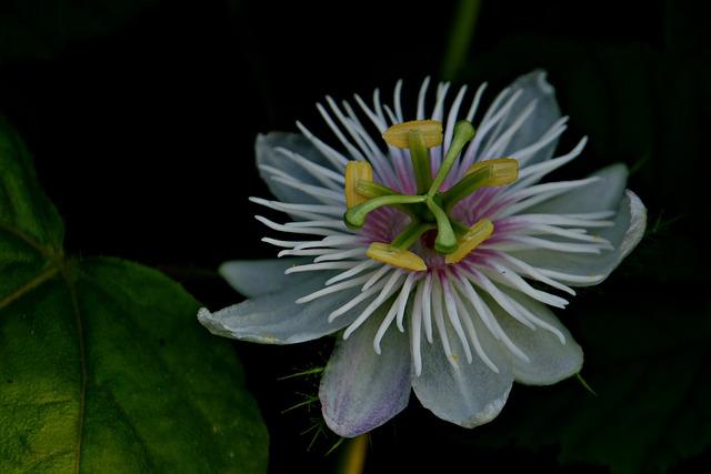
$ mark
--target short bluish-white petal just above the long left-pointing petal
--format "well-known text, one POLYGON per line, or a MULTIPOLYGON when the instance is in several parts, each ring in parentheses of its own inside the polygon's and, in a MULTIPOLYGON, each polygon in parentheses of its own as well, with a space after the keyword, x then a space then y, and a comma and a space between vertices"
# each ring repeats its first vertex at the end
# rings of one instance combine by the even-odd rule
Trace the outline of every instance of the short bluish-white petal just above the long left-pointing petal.
POLYGON ((239 293, 246 297, 254 297, 312 276, 284 274, 287 269, 308 261, 309 259, 233 260, 221 264, 219 272, 239 293))

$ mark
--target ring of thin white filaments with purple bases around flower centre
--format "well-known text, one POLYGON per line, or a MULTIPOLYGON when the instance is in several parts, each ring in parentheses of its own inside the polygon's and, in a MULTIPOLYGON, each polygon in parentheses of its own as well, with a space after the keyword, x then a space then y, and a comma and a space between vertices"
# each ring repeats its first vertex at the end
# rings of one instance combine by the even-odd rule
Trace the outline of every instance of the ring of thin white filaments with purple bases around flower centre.
MULTIPOLYGON (((430 78, 425 78, 419 88, 415 118, 432 118, 439 121, 445 119, 442 145, 431 151, 432 167, 435 171, 451 145, 454 124, 461 118, 462 104, 468 93, 467 87, 460 88, 448 109, 450 84, 440 83, 434 90, 433 104, 428 108, 425 102, 429 87, 430 78)), ((538 153, 554 145, 567 128, 568 118, 561 118, 540 137, 532 138, 527 147, 508 150, 515 141, 517 133, 533 120, 537 101, 519 104, 522 90, 503 90, 483 114, 474 139, 452 167, 447 183, 453 184, 474 162, 499 158, 503 151, 519 160, 520 172, 517 182, 484 193, 484 198, 477 198, 472 204, 478 206, 481 202, 483 205, 475 208, 475 211, 489 212, 490 219, 494 220, 494 228, 501 225, 504 231, 494 234, 498 239, 480 245, 483 264, 464 260, 454 265, 432 268, 424 273, 410 272, 370 260, 365 252, 372 242, 372 235, 369 235, 368 231, 352 231, 342 221, 346 211, 343 170, 349 160, 370 162, 375 181, 391 188, 407 190, 414 182, 409 153, 387 147, 379 137, 371 137, 368 131, 372 128, 370 123, 382 133, 390 124, 408 120, 403 114, 402 88, 402 81, 398 81, 392 94, 392 105, 381 101, 379 90, 373 92, 372 104, 368 104, 360 95, 354 95, 358 112, 349 102, 342 101, 339 105, 331 97, 327 97, 323 104, 317 104, 317 109, 333 134, 337 148, 317 138, 303 124, 297 122, 301 133, 326 161, 314 162, 294 150, 277 147, 276 152, 289 162, 290 171, 286 172, 273 162, 260 165, 261 172, 269 178, 270 185, 293 189, 301 193, 297 195, 303 195, 309 200, 301 203, 250 198, 256 204, 270 211, 283 212, 293 220, 281 224, 257 215, 256 219, 267 228, 289 233, 294 239, 263 238, 262 241, 281 249, 279 256, 313 259, 310 263, 287 269, 287 274, 330 272, 329 278, 324 278, 322 288, 299 297, 296 303, 310 304, 316 300, 334 297, 344 291, 353 292, 353 289, 360 288, 360 291, 356 290, 357 294, 324 317, 328 317, 329 322, 337 319, 347 321, 343 332, 346 339, 370 317, 379 317, 378 330, 372 341, 373 350, 379 354, 388 350, 388 340, 384 337, 388 331, 394 331, 393 322, 401 332, 408 327, 415 376, 420 376, 423 364, 428 363, 423 360, 422 340, 425 339, 427 343, 432 344, 434 335, 439 337, 448 361, 455 367, 463 363, 452 349, 457 342, 460 343, 462 355, 468 363, 478 357, 495 373, 499 373, 501 367, 493 361, 500 359, 491 357, 495 354, 490 347, 501 347, 517 359, 530 362, 529 355, 503 330, 501 319, 504 316, 512 317, 532 331, 548 331, 564 344, 564 334, 535 314, 533 304, 538 303, 533 302, 562 309, 568 301, 540 290, 531 282, 535 281, 574 295, 575 292, 569 284, 592 284, 604 275, 570 274, 534 266, 510 252, 534 252, 543 249, 561 253, 601 254, 612 249, 609 240, 595 235, 593 231, 614 225, 611 220, 614 211, 525 213, 535 204, 564 195, 600 179, 592 177, 577 181, 540 183, 545 175, 579 157, 585 147, 587 138, 580 140, 568 153, 540 161, 538 153), (361 118, 365 120, 361 121, 361 118), (530 161, 540 162, 529 165, 530 161), (334 271, 339 273, 334 274, 334 271), (515 295, 518 296, 513 297, 515 295), (523 304, 521 301, 528 303, 523 304), (359 310, 363 306, 364 309, 359 310), (388 311, 384 311, 385 307, 388 311), (356 313, 357 311, 360 312, 356 313)), ((479 87, 469 109, 464 108, 467 120, 473 120, 477 114, 484 89, 485 84, 479 87)), ((400 218, 390 218, 397 214, 379 214, 370 225, 372 229, 379 229, 379 232, 397 233, 402 221, 400 218)))

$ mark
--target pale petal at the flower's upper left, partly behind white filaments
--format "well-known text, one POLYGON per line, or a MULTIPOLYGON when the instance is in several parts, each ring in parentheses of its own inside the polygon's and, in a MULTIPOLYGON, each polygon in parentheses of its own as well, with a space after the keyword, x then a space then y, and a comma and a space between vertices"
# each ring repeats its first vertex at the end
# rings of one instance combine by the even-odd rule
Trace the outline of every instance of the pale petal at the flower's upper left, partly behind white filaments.
MULTIPOLYGON (((304 184, 323 186, 323 183, 314 178, 307 169, 299 165, 280 149, 287 149, 297 153, 312 163, 333 169, 333 165, 323 154, 311 144, 303 135, 298 133, 270 132, 266 135, 257 135, 254 151, 257 153, 258 167, 270 167, 284 173, 289 178, 299 180, 304 184)), ((272 173, 260 168, 260 175, 269 186, 269 190, 282 202, 298 202, 302 204, 321 204, 312 195, 307 194, 293 186, 284 184, 281 180, 272 178, 272 173)), ((324 178, 324 177, 322 177, 324 178)), ((329 179, 329 178, 324 178, 329 179)))

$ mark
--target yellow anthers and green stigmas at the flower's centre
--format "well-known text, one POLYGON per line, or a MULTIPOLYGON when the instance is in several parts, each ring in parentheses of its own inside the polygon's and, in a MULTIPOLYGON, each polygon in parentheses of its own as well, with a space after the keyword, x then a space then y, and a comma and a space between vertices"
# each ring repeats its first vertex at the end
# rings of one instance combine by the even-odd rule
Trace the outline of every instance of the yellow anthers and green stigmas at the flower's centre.
POLYGON ((368 256, 412 271, 424 271, 424 261, 409 249, 418 241, 444 255, 445 263, 460 262, 493 233, 493 223, 482 219, 471 226, 452 216, 452 210, 464 198, 483 186, 503 186, 519 175, 517 160, 501 158, 473 164, 464 177, 447 191, 442 184, 464 145, 474 137, 468 121, 454 125, 454 134, 442 164, 432 177, 429 149, 442 143, 442 124, 434 120, 398 123, 383 133, 391 147, 409 149, 414 170, 417 194, 401 194, 373 181, 370 163, 351 161, 346 167, 346 203, 343 215, 351 229, 360 229, 368 214, 392 206, 410 216, 410 224, 392 242, 373 242, 368 256))

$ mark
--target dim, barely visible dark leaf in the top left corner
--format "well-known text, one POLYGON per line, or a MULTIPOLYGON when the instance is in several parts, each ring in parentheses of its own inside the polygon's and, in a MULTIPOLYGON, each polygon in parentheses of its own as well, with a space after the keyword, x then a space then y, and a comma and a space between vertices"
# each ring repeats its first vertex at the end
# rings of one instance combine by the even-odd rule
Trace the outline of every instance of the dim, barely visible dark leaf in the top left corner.
POLYGON ((157 0, 4 0, 0 61, 50 58, 71 41, 111 33, 157 0))

